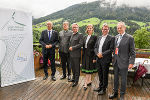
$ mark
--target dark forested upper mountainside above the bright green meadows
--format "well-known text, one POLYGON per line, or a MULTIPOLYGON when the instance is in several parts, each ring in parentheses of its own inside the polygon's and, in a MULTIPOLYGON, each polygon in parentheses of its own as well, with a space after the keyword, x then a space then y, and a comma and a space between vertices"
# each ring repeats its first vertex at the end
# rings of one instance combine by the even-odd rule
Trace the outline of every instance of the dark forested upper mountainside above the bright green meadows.
POLYGON ((125 5, 117 8, 113 6, 102 7, 101 3, 101 1, 95 1, 90 3, 76 4, 45 17, 34 19, 33 24, 35 25, 47 20, 55 20, 60 18, 63 18, 63 20, 68 20, 70 23, 74 23, 92 17, 102 20, 136 20, 150 22, 150 11, 146 8, 128 7, 125 5))

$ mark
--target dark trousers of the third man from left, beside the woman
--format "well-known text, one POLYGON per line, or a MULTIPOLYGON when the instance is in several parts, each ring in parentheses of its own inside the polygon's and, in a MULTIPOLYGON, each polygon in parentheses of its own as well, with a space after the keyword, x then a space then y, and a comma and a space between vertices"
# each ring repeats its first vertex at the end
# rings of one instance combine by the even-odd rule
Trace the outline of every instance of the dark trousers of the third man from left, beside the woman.
POLYGON ((76 83, 79 81, 80 76, 80 58, 79 57, 70 57, 70 64, 71 69, 73 72, 73 80, 75 80, 76 83))

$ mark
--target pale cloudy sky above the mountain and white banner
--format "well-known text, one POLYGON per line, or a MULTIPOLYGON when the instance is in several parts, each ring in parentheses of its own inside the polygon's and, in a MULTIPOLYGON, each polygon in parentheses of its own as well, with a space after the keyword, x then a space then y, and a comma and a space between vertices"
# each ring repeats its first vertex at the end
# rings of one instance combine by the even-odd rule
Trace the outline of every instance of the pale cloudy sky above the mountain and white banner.
MULTIPOLYGON (((46 16, 71 5, 97 0, 0 0, 0 8, 11 8, 32 12, 35 18, 46 16)), ((106 0, 114 2, 116 0, 106 0)), ((117 4, 150 7, 150 0, 117 0, 117 4)))

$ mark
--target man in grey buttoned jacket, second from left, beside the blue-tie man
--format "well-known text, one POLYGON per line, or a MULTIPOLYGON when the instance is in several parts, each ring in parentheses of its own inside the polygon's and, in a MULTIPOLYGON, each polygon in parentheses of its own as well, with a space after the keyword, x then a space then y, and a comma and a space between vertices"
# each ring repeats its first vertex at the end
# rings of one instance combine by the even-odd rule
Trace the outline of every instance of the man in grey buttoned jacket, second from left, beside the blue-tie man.
POLYGON ((66 78, 66 67, 68 71, 68 80, 70 80, 71 68, 69 66, 69 42, 72 35, 72 31, 68 30, 69 22, 63 22, 63 30, 59 32, 59 55, 61 58, 63 75, 60 78, 66 78))

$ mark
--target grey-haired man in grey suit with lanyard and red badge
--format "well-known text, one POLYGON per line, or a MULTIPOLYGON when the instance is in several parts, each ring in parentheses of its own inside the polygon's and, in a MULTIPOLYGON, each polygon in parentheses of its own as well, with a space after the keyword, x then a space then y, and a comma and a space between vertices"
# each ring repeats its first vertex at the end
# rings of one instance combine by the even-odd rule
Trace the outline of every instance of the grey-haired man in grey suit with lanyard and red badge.
POLYGON ((128 69, 133 67, 135 61, 135 46, 134 38, 125 33, 125 23, 117 24, 118 35, 115 37, 114 47, 114 92, 109 96, 109 99, 118 96, 119 74, 121 75, 120 100, 124 100, 126 90, 128 69))

